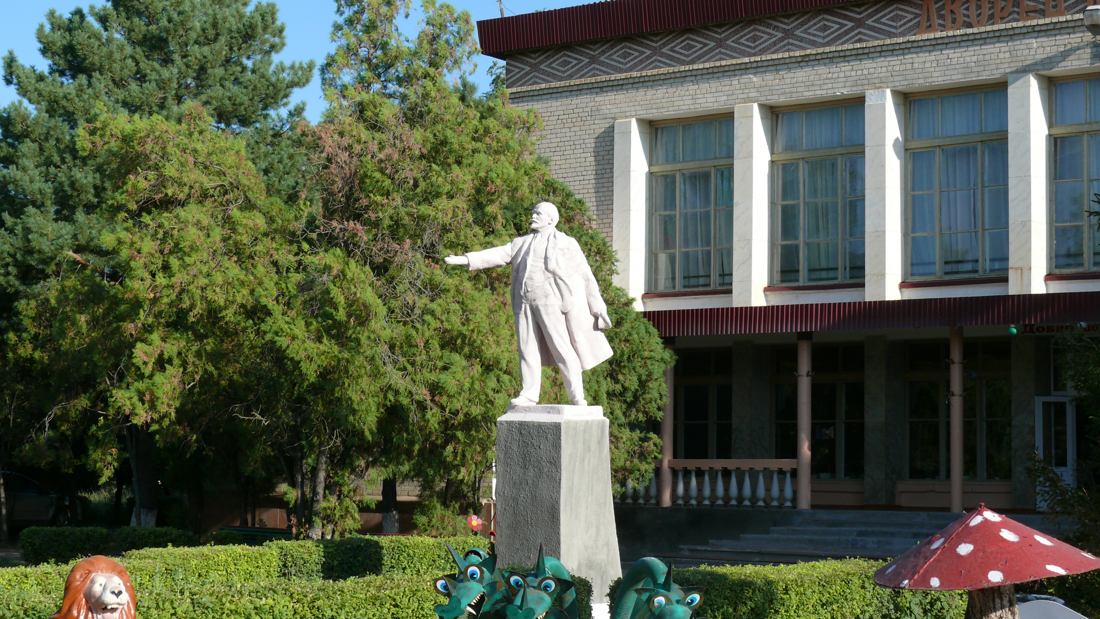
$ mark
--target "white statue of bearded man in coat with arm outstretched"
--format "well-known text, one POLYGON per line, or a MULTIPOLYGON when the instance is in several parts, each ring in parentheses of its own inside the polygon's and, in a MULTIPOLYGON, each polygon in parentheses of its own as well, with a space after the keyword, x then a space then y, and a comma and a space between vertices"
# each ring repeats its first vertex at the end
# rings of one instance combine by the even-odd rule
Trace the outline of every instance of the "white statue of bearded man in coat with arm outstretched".
POLYGON ((513 405, 538 404, 542 366, 558 366, 569 401, 586 406, 581 371, 612 356, 603 329, 612 326, 607 304, 576 240, 554 226, 558 207, 535 206, 531 234, 508 245, 463 256, 448 256, 448 264, 471 271, 512 264, 512 311, 519 340, 522 391, 513 405))

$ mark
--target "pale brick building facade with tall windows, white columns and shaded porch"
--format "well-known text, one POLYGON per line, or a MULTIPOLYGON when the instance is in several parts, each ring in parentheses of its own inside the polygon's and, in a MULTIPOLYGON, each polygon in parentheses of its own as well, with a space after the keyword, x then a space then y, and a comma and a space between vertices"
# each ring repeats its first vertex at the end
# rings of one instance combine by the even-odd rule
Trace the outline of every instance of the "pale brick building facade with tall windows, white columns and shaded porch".
POLYGON ((666 468, 802 458, 815 507, 1034 509, 1035 453, 1071 477, 1057 334, 1100 321, 1085 9, 609 0, 479 23, 676 352, 666 468))

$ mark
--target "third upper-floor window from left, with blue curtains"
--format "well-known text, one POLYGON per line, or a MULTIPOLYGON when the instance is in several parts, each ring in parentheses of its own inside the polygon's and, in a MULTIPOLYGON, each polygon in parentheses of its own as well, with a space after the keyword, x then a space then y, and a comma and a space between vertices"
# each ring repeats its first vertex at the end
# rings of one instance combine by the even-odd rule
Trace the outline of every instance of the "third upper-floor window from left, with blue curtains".
POLYGON ((909 275, 1009 270, 1008 96, 909 101, 909 275))

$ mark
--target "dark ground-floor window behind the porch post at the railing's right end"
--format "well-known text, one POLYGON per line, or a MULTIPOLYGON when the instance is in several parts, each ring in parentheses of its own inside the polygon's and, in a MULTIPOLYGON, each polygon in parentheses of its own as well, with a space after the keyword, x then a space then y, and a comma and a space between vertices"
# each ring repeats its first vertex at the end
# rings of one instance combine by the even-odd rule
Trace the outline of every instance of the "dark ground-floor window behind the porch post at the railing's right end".
MULTIPOLYGON (((776 349, 776 457, 795 457, 795 349, 776 349)), ((810 470, 814 479, 864 477, 864 346, 813 346, 810 470)))

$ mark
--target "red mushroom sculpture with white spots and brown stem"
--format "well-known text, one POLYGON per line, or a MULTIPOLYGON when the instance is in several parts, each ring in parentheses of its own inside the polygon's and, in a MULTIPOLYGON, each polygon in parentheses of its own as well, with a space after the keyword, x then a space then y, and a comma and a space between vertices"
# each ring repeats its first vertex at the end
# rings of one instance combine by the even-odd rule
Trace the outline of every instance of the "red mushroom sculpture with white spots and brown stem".
POLYGON ((894 589, 969 591, 966 619, 1018 619, 1013 585, 1100 568, 1100 558, 986 504, 875 573, 894 589))

